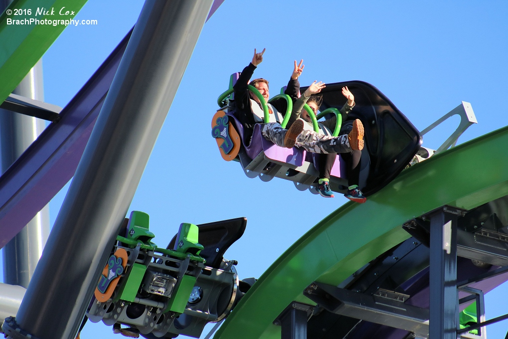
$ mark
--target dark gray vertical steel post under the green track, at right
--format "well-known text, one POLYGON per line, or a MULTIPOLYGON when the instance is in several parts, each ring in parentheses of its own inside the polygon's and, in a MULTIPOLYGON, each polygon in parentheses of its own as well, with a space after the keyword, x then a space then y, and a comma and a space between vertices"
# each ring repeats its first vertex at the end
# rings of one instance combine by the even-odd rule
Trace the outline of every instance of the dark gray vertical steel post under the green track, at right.
POLYGON ((457 338, 457 215, 430 215, 430 319, 432 339, 457 338))

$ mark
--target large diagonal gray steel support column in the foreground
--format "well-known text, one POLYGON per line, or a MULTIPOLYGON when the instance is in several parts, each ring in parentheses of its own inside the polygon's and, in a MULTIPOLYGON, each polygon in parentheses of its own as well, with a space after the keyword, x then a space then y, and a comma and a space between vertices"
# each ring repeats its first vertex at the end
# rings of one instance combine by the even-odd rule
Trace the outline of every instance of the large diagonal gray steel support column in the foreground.
POLYGON ((19 308, 22 331, 76 335, 211 4, 145 2, 19 308))

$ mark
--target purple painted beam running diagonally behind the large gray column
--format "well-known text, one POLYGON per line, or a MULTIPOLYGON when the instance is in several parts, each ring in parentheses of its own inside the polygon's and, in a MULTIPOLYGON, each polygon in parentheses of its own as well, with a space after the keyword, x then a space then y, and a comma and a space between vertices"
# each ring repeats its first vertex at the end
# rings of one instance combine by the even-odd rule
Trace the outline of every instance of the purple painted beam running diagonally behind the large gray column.
POLYGON ((60 112, 60 121, 0 177, 0 248, 73 177, 131 33, 60 112))

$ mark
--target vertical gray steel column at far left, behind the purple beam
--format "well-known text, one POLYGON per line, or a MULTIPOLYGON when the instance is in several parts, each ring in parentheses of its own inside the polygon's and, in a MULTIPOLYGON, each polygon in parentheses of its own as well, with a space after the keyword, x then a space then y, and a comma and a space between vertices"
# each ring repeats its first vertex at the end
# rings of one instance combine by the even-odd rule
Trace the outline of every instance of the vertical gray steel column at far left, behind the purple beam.
MULTIPOLYGON (((14 94, 44 101, 42 59, 13 91, 14 94)), ((45 121, 0 109, 2 173, 46 128, 45 121)), ((4 283, 28 287, 49 235, 49 206, 45 206, 5 247, 4 283)))

